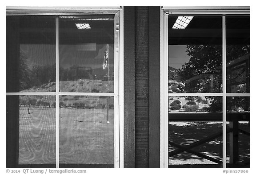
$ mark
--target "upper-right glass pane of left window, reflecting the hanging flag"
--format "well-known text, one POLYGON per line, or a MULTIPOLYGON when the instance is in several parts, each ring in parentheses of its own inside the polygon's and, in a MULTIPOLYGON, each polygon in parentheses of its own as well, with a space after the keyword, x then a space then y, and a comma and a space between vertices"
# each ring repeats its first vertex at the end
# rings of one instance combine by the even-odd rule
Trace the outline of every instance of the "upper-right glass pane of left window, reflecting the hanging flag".
POLYGON ((114 15, 60 16, 59 72, 60 92, 114 92, 114 15))

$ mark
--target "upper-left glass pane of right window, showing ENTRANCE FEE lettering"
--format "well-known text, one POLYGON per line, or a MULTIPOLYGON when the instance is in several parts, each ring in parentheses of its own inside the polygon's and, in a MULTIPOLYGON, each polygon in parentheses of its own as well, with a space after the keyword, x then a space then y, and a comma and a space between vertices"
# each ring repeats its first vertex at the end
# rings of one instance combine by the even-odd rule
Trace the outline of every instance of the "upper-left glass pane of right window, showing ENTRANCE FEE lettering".
POLYGON ((168 93, 221 93, 222 18, 183 17, 191 21, 178 29, 168 16, 168 93))

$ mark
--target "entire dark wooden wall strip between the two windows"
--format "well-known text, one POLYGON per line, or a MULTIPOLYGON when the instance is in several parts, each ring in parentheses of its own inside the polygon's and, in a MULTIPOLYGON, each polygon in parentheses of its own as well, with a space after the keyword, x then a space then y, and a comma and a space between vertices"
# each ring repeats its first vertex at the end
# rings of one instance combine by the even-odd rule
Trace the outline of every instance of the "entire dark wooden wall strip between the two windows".
POLYGON ((124 167, 160 167, 159 6, 124 6, 124 167))

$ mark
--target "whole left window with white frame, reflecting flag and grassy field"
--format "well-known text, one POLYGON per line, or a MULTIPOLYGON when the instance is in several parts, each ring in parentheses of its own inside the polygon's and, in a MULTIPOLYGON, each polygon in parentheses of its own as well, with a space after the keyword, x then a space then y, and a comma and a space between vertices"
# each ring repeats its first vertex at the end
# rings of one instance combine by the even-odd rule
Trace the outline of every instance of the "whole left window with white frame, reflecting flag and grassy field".
POLYGON ((120 27, 119 7, 7 8, 7 167, 122 167, 120 27))

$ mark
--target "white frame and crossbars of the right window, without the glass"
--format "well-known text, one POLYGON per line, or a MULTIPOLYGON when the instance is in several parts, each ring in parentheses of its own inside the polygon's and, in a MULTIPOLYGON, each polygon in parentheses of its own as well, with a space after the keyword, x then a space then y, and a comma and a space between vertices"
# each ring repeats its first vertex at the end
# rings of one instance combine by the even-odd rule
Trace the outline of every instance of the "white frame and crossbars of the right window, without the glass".
MULTIPOLYGON (((222 62, 226 62, 225 15, 250 15, 250 6, 161 6, 160 10, 160 168, 168 168, 168 97, 169 96, 222 96, 223 125, 226 125, 226 97, 250 97, 250 93, 226 92, 226 63, 222 66, 222 93, 168 94, 168 16, 169 15, 222 16, 222 62)), ((226 126, 223 126, 223 168, 226 168, 226 126)))

